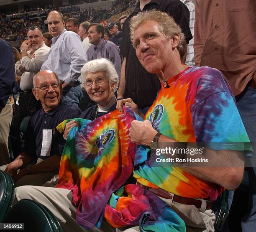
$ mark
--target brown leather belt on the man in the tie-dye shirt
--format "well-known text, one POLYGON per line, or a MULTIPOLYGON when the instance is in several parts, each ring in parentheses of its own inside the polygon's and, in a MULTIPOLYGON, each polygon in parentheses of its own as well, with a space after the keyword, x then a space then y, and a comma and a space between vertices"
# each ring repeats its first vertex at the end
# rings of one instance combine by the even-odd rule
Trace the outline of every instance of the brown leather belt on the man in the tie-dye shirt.
MULTIPOLYGON (((195 198, 188 198, 178 195, 172 195, 168 191, 165 191, 164 189, 158 189, 158 188, 151 188, 148 186, 145 186, 137 181, 136 185, 141 186, 143 189, 146 189, 148 191, 151 191, 152 193, 156 194, 157 196, 166 198, 166 199, 172 199, 173 201, 176 201, 181 204, 188 204, 188 205, 195 205, 198 209, 201 208, 202 201, 195 199, 195 198)), ((206 201, 206 209, 212 209, 212 202, 206 201)))

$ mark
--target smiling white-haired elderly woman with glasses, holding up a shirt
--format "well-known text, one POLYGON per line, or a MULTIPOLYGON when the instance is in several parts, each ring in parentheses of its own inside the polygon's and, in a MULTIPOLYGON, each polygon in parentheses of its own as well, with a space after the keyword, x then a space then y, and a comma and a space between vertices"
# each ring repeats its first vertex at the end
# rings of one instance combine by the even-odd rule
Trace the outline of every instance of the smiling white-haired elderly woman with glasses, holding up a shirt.
MULTIPOLYGON (((118 88, 118 74, 111 61, 105 58, 89 61, 81 69, 82 82, 92 101, 97 105, 81 113, 80 118, 95 120, 116 109, 117 99, 114 92, 118 88)), ((75 121, 68 122, 64 131, 67 138, 72 127, 78 126, 75 121)))

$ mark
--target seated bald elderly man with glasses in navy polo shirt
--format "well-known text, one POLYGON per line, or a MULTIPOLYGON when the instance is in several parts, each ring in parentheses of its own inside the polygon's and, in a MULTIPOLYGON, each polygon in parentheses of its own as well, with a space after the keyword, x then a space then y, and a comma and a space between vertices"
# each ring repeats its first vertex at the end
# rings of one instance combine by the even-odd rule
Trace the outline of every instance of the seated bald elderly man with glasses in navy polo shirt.
POLYGON ((33 94, 42 108, 28 122, 24 151, 8 166, 0 167, 13 176, 16 186, 51 182, 59 172, 61 148, 65 144, 55 127, 81 113, 76 105, 61 99, 59 79, 54 72, 40 71, 33 78, 33 86, 33 94))

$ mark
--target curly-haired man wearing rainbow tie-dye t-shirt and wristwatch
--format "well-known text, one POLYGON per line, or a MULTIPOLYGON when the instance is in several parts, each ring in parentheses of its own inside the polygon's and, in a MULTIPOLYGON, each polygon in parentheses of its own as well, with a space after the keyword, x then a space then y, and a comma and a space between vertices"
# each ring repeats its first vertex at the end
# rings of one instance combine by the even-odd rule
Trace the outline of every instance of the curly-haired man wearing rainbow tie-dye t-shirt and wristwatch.
MULTIPOLYGON (((249 139, 236 108, 234 96, 220 71, 181 63, 184 38, 173 18, 159 11, 138 13, 131 19, 131 41, 142 66, 155 73, 161 89, 145 121, 131 122, 131 141, 142 145, 136 153, 133 176, 138 185, 166 201, 184 220, 187 231, 214 231, 212 201, 224 189, 236 189, 243 178, 243 156, 249 139), (174 167, 159 164, 150 150, 159 143, 210 143, 212 167, 174 167), (214 146, 213 146, 214 144, 214 146), (151 148, 151 149, 150 149, 151 148), (228 163, 232 161, 236 167, 228 163), (222 166, 223 165, 223 166, 222 166)), ((117 108, 131 106, 119 100, 117 108)), ((129 230, 128 230, 129 231, 129 230)))

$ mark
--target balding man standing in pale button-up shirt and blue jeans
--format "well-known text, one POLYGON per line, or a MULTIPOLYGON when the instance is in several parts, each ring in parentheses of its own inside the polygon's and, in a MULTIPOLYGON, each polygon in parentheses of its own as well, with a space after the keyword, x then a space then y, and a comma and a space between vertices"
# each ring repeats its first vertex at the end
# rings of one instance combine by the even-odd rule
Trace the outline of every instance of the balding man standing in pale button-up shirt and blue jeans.
POLYGON ((62 96, 70 103, 79 105, 82 96, 80 87, 81 68, 87 62, 87 55, 81 39, 65 29, 63 15, 53 10, 47 17, 52 38, 51 49, 41 70, 54 71, 62 83, 62 96))

